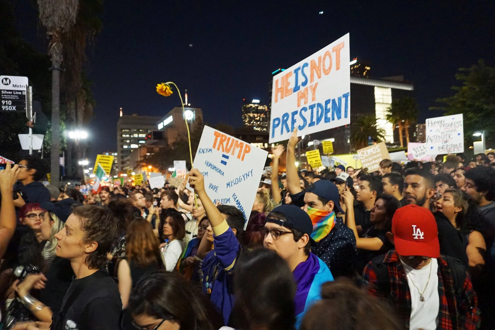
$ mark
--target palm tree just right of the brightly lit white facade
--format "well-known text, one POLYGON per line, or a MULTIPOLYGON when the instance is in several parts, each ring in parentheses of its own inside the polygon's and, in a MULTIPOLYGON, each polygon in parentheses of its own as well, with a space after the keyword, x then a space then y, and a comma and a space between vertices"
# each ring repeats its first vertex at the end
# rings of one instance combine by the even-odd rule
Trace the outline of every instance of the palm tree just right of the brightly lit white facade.
POLYGON ((400 146, 404 147, 404 138, 402 132, 405 130, 405 138, 407 143, 409 143, 409 126, 416 122, 418 119, 418 106, 414 98, 409 96, 404 96, 402 98, 397 98, 392 101, 389 112, 386 115, 386 119, 394 125, 397 126, 399 131, 399 141, 400 146))

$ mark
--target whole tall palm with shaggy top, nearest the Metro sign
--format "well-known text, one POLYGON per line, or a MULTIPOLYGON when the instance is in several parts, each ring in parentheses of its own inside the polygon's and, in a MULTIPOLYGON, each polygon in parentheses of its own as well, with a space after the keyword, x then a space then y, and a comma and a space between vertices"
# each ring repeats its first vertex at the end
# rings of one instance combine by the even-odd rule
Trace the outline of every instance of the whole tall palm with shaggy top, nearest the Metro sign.
POLYGON ((62 62, 61 34, 76 22, 79 0, 37 0, 39 18, 50 37, 51 56, 51 184, 59 184, 60 156, 60 63, 62 62))

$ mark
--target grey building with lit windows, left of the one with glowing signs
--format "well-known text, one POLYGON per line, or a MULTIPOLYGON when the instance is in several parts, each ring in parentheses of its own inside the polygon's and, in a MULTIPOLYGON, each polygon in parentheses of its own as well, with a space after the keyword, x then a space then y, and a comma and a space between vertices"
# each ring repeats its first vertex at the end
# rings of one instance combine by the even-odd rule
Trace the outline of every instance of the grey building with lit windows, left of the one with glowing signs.
POLYGON ((160 117, 122 115, 117 121, 117 168, 121 172, 124 158, 129 156, 131 150, 137 149, 140 144, 146 142, 149 131, 156 128, 156 122, 160 117))

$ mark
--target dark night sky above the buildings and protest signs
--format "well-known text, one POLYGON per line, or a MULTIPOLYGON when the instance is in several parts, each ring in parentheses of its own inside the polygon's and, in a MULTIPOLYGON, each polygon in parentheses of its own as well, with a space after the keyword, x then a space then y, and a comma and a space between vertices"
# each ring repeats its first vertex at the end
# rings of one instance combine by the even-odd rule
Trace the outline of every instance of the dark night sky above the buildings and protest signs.
MULTIPOLYGON (((45 51, 36 7, 25 2, 14 2, 18 28, 45 51)), ((104 7, 103 30, 88 52, 97 101, 92 156, 116 150, 119 107, 163 116, 180 104, 177 94, 156 94, 159 82, 187 89, 206 123, 241 126, 242 99, 268 101, 272 71, 346 33, 351 57, 368 60, 372 77, 404 75, 414 83, 420 122, 440 115, 428 107, 452 94, 459 67, 480 58, 494 65, 492 0, 104 0, 104 7)))

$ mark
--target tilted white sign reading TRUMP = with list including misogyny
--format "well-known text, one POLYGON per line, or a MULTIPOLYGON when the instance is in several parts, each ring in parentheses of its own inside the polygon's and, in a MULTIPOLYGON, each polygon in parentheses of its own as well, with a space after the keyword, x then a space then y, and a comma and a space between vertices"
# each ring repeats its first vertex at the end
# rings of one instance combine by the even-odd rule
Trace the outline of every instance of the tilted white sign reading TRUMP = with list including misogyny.
POLYGON ((194 167, 202 173, 211 200, 236 206, 247 225, 267 155, 263 149, 204 126, 194 167))

